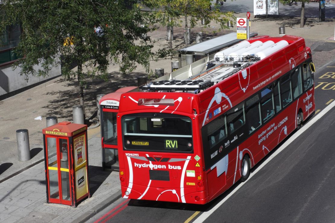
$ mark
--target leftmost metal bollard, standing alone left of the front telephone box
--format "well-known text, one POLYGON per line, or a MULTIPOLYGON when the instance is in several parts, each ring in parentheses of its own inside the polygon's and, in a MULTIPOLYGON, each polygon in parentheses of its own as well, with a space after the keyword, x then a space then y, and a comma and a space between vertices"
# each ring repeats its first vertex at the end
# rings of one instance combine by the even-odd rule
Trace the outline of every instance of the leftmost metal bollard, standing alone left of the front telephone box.
POLYGON ((28 161, 30 159, 28 129, 16 130, 16 141, 19 161, 28 161))

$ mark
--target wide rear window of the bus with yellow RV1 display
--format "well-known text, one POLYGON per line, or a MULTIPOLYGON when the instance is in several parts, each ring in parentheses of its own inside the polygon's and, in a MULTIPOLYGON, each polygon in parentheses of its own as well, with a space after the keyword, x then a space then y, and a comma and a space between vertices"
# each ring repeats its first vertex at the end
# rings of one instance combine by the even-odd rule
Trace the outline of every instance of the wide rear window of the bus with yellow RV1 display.
POLYGON ((165 152, 193 150, 190 118, 159 113, 139 115, 122 118, 124 149, 165 152))

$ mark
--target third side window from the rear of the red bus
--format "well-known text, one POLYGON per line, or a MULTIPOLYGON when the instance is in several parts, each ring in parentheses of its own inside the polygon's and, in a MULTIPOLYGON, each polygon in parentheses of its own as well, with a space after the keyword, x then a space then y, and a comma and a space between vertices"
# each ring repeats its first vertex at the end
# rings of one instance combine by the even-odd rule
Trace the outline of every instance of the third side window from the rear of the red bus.
POLYGON ((261 109, 259 104, 259 94, 254 95, 246 101, 246 119, 249 133, 261 126, 261 109))

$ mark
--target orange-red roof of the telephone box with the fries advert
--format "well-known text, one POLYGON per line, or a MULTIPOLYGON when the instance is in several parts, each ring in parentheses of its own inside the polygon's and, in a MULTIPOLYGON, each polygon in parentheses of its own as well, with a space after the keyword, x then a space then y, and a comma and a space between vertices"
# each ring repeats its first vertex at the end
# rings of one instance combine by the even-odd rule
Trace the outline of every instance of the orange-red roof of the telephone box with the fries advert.
POLYGON ((44 128, 43 134, 71 137, 87 130, 87 125, 71 122, 59 122, 55 125, 44 128))

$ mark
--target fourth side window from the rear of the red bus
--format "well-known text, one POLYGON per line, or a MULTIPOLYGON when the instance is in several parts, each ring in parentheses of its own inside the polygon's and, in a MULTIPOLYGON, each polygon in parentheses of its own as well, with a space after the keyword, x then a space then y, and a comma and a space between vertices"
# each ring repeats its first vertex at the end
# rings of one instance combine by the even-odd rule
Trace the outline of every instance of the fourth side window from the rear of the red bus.
POLYGON ((261 111, 263 122, 274 115, 273 92, 271 86, 261 91, 261 111))

